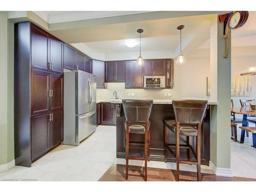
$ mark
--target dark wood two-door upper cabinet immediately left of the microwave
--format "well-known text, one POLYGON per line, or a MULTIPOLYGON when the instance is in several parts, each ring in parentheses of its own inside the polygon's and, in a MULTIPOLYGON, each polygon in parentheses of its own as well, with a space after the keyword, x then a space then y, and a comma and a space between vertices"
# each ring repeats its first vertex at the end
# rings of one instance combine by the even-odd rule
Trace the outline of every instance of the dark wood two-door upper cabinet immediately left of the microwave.
POLYGON ((143 66, 137 65, 137 61, 126 61, 125 64, 125 88, 143 88, 143 66))

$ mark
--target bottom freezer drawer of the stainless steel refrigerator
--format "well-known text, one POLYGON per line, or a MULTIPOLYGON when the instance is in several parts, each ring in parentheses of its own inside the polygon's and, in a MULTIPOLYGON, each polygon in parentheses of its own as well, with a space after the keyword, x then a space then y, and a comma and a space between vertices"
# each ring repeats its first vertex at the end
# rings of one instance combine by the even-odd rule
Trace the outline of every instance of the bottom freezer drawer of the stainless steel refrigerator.
POLYGON ((76 143, 80 143, 96 130, 96 110, 76 116, 76 143))

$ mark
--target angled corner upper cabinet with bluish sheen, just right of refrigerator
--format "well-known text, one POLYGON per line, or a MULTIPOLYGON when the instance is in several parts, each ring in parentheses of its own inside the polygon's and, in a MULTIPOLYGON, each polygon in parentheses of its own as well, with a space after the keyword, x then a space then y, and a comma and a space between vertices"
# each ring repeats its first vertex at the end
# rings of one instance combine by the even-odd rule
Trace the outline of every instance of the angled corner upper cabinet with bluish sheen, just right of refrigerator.
POLYGON ((105 87, 104 62, 93 60, 93 74, 96 75, 97 88, 105 87))

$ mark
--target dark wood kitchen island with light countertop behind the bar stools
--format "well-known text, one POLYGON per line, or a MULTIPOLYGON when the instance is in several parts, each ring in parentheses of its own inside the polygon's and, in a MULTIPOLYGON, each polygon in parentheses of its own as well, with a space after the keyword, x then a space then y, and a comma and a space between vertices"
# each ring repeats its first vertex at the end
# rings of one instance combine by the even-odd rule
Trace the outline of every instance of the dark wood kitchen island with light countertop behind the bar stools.
MULTIPOLYGON (((110 102, 110 101, 109 101, 110 102)), ((117 118, 116 118, 116 157, 125 158, 125 129, 124 129, 124 113, 122 109, 121 100, 111 100, 116 104, 117 118)), ((151 142, 150 142, 150 159, 154 161, 164 161, 164 119, 175 119, 172 100, 153 100, 153 108, 150 115, 151 120, 151 142)), ((202 124, 201 131, 201 162, 204 165, 209 165, 210 159, 210 108, 218 102, 208 102, 206 116, 202 124)), ((131 142, 144 142, 143 134, 130 134, 131 142)), ((187 136, 180 136, 180 144, 188 144, 187 136)), ((168 130, 168 143, 175 144, 175 134, 168 130)), ((191 139, 190 143, 196 148, 196 137, 191 139)), ((130 147, 131 156, 144 156, 144 148, 139 146, 130 147)), ((188 150, 180 148, 180 159, 188 160, 188 150)), ((195 160, 195 159, 193 159, 195 160)), ((175 162, 175 157, 168 152, 167 161, 175 162)))

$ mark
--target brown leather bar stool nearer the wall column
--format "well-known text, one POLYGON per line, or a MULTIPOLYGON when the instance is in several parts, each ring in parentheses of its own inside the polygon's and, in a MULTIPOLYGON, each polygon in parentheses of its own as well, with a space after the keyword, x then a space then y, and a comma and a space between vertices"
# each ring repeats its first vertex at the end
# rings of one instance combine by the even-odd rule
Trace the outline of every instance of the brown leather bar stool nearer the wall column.
MULTIPOLYGON (((173 110, 175 120, 164 120, 164 161, 167 162, 167 151, 169 150, 176 158, 176 180, 179 181, 179 163, 196 164, 197 165, 197 180, 201 181, 201 125, 205 117, 207 107, 206 100, 173 100, 173 110), (167 128, 176 134, 176 145, 168 144, 167 128), (196 151, 190 145, 190 142, 185 147, 189 150, 189 160, 180 160, 180 135, 197 137, 196 151), (169 146, 176 146, 176 153, 169 146), (196 161, 191 160, 191 152, 194 154, 196 161)), ((190 138, 189 138, 190 141, 190 138)))

